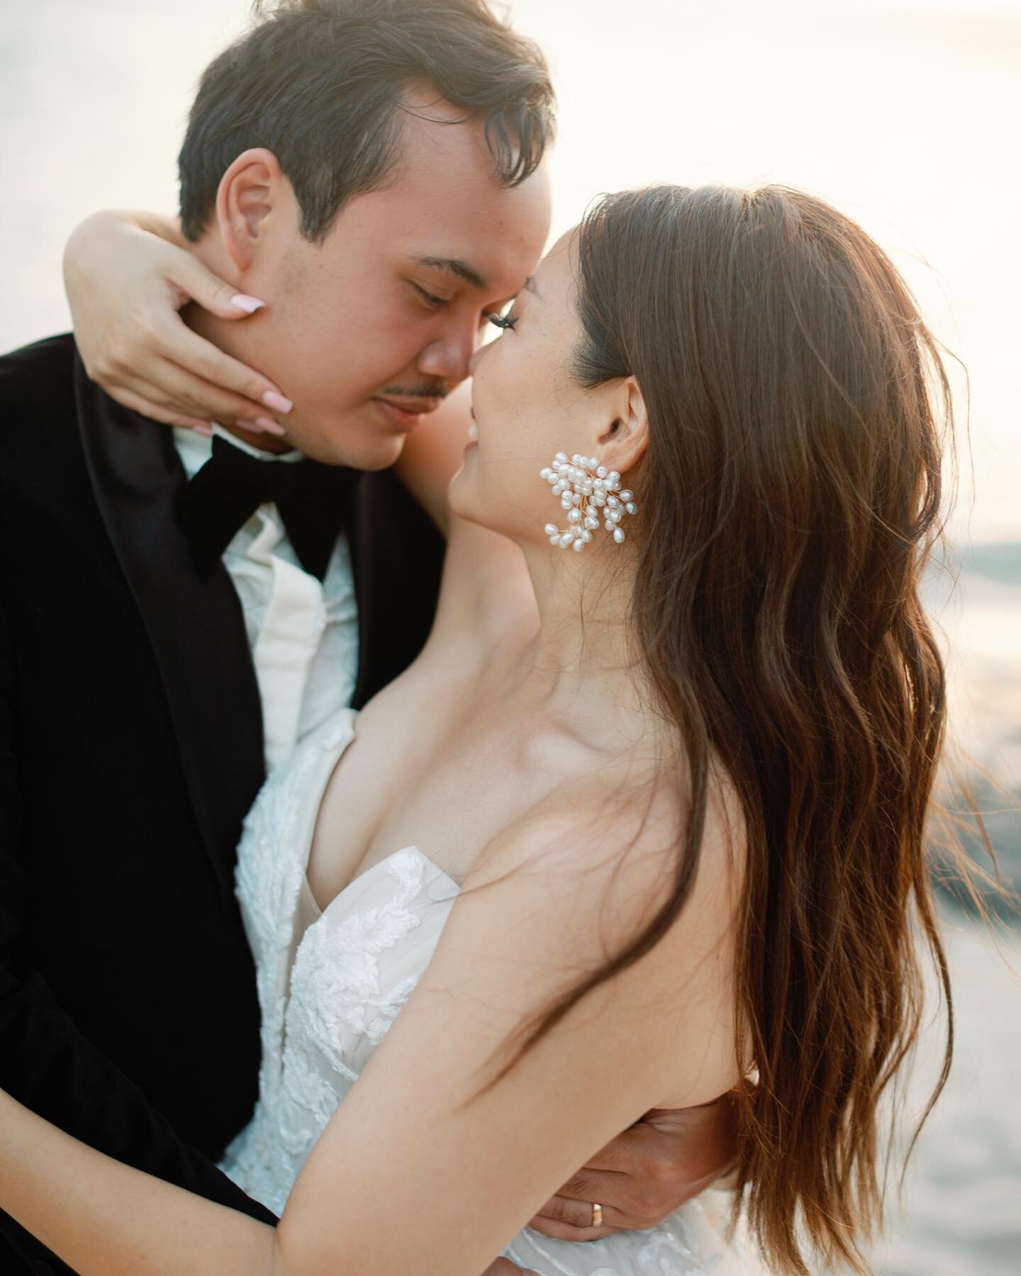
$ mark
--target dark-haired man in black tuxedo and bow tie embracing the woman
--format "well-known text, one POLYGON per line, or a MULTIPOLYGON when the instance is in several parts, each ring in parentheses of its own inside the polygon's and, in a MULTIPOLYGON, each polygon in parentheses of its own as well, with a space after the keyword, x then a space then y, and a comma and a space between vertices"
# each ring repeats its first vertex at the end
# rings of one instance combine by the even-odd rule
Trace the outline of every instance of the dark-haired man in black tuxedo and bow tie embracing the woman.
MULTIPOLYGON (((287 385, 285 436, 175 436, 66 336, 0 360, 0 1086, 257 1217, 214 1165, 258 1088, 241 819, 428 634, 443 545, 389 467, 541 251, 551 102, 481 0, 292 0, 208 68, 180 157, 197 255, 272 299, 191 322, 287 385)), ((726 1116, 641 1123, 537 1225, 651 1226, 726 1116)), ((59 1270, 3 1219, 0 1271, 59 1270)))

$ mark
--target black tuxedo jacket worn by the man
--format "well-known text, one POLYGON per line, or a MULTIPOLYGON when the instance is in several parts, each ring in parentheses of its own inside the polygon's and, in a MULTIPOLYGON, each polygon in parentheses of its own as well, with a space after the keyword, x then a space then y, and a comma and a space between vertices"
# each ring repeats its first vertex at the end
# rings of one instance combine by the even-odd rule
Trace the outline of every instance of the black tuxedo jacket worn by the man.
MULTIPOLYGON (((263 780, 241 607, 202 578, 171 431, 71 337, 0 359, 0 1086, 93 1147, 272 1221, 214 1166, 257 1094, 234 898, 263 780)), ((415 657, 442 540, 388 472, 347 532, 360 707, 415 657)), ((66 1271, 0 1216, 0 1271, 66 1271)))

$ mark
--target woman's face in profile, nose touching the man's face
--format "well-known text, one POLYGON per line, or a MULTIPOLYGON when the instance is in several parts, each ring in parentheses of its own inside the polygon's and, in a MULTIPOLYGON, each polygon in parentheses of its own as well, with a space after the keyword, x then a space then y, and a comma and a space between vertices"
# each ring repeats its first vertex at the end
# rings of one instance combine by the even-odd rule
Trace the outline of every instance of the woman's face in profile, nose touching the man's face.
POLYGON ((607 397, 582 389, 570 370, 582 336, 573 245, 569 232, 539 263, 507 327, 471 365, 479 439, 453 478, 451 507, 522 545, 548 541, 545 523, 567 526, 539 471, 556 452, 599 457, 611 427, 607 397))

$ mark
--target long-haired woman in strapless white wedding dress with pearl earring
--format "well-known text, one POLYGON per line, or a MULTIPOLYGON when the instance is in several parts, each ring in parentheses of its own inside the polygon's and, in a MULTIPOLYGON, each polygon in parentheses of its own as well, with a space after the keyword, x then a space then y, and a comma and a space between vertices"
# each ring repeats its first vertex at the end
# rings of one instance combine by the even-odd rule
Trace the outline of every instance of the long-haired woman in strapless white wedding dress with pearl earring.
POLYGON ((449 526, 430 641, 239 851, 263 1063, 226 1169, 281 1224, 0 1096, 0 1207, 79 1272, 864 1270, 918 919, 941 954, 933 341, 860 228, 776 186, 610 197, 494 322, 449 508, 451 458, 408 457, 449 526), (643 1113, 731 1088, 733 1198, 525 1228, 643 1113))

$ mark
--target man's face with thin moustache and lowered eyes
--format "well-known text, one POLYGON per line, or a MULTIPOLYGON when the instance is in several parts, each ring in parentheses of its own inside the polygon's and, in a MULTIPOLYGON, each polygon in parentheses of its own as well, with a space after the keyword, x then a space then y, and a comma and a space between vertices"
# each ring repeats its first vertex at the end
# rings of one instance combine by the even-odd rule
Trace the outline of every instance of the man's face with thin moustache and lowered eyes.
POLYGON ((357 195, 327 239, 299 231, 290 182, 262 218, 245 292, 268 306, 225 325, 232 353, 294 399, 287 440, 329 463, 379 470, 422 412, 468 374, 486 316, 512 299, 550 222, 545 167, 507 189, 477 121, 425 98, 402 116, 384 189, 357 195))

